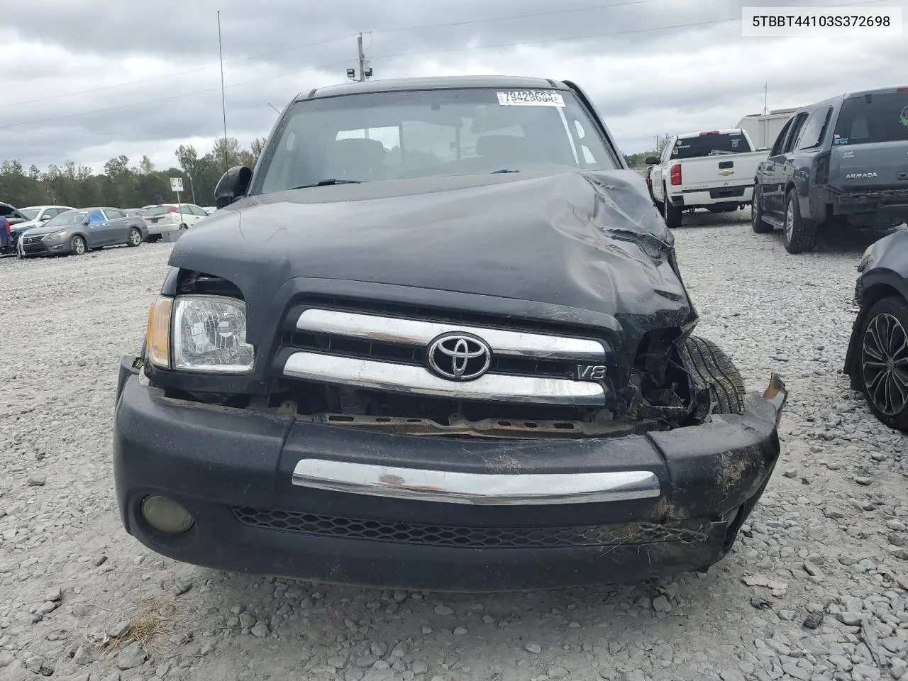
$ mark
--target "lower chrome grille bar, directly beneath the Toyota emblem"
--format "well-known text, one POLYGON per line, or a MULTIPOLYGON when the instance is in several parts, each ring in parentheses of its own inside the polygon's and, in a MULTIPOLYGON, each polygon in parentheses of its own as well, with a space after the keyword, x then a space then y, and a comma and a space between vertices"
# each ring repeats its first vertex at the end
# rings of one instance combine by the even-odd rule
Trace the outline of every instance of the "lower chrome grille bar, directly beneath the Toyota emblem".
POLYGON ((450 400, 490 400, 573 407, 599 407, 606 403, 603 387, 590 381, 487 373, 477 380, 461 383, 440 379, 422 367, 316 352, 294 352, 287 358, 283 373, 295 379, 430 395, 450 400))

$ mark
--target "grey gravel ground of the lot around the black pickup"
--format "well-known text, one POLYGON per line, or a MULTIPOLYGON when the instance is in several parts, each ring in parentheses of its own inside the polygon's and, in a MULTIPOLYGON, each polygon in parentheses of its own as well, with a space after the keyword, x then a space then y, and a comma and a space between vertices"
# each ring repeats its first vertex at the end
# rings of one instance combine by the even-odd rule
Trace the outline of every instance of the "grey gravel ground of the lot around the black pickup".
POLYGON ((312 587, 164 560, 120 526, 119 358, 169 244, 0 260, 0 679, 908 679, 904 439, 840 373, 868 241, 785 253, 742 214, 676 231, 748 387, 791 391, 783 454, 707 575, 529 595, 312 587))

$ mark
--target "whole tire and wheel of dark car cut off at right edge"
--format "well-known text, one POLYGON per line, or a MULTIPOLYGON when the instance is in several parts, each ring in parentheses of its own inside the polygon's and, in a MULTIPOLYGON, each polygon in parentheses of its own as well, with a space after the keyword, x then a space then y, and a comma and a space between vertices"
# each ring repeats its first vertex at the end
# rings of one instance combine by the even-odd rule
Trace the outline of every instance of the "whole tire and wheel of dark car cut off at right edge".
POLYGON ((900 351, 908 341, 908 303, 898 296, 877 301, 867 313, 859 338, 858 373, 867 404, 889 428, 908 432, 908 352, 900 351), (894 331, 887 348, 878 343, 883 330, 894 331), (881 354, 883 360, 876 360, 874 356, 881 354), (896 373, 899 367, 902 370, 896 373), (889 390, 880 390, 886 383, 889 390))

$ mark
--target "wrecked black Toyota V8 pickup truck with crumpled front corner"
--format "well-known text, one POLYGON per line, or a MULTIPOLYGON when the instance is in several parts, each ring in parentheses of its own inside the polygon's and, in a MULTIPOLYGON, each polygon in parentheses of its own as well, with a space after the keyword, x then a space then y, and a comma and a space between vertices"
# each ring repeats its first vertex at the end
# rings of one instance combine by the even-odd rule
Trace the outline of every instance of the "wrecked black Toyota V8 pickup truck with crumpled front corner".
MULTIPOLYGON (((123 525, 236 572, 439 591, 706 570, 779 456, 575 84, 300 94, 123 358, 123 525)), ((137 330, 138 331, 138 330, 137 330)))

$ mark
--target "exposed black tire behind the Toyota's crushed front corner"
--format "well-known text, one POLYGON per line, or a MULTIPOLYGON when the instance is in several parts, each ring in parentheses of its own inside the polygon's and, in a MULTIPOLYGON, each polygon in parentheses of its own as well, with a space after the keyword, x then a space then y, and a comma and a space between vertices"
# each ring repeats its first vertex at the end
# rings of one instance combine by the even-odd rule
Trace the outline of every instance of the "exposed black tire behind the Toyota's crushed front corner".
POLYGON ((691 336, 681 348, 681 361, 696 387, 709 390, 714 414, 744 413, 744 379, 731 358, 716 343, 691 336))

